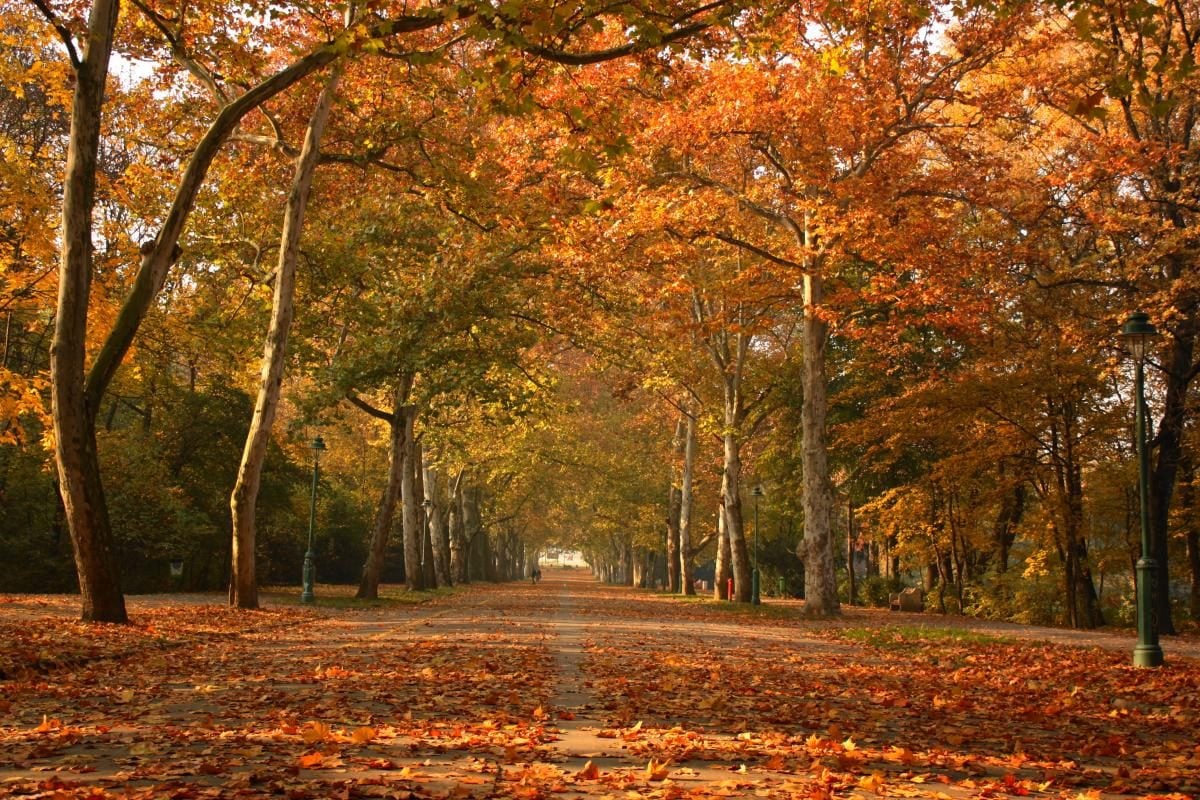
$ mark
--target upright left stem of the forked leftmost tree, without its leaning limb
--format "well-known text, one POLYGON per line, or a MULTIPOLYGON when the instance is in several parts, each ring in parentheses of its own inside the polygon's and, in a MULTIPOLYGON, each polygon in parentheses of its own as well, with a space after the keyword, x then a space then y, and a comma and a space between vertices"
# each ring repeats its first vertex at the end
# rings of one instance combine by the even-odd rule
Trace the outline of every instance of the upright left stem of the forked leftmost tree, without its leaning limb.
POLYGON ((50 345, 59 493, 74 548, 83 619, 101 622, 128 621, 96 450, 96 413, 103 386, 89 396, 84 384, 100 126, 118 14, 115 0, 92 5, 83 60, 76 65, 62 185, 58 313, 50 345))

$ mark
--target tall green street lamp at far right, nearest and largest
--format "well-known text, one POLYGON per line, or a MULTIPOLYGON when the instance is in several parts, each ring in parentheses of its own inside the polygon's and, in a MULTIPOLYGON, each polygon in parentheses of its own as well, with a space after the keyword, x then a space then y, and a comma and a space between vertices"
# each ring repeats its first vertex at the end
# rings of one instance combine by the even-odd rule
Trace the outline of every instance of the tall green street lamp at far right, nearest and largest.
POLYGON ((1146 457, 1146 351, 1158 336, 1150 315, 1140 311, 1129 314, 1121 338, 1136 365, 1134 402, 1138 404, 1138 494, 1141 503, 1141 558, 1138 559, 1138 644, 1133 649, 1135 667, 1162 667, 1163 648, 1158 645, 1158 626, 1153 620, 1152 591, 1158 565, 1150 548, 1150 459, 1146 457))

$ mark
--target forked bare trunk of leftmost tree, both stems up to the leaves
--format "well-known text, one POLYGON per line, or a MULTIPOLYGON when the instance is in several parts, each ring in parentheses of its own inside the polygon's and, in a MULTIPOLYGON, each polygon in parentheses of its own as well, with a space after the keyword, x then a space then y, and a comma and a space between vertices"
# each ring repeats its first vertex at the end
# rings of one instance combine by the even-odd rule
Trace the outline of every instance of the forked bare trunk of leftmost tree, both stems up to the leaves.
POLYGON ((79 573, 83 618, 106 622, 124 622, 127 618, 96 452, 95 426, 101 398, 162 290, 170 266, 179 258, 179 237, 221 145, 246 114, 340 54, 335 48, 322 46, 221 109, 192 149, 158 234, 143 245, 132 288, 85 379, 97 152, 119 6, 118 0, 92 4, 82 58, 76 61, 72 56, 74 95, 62 180, 59 297, 50 347, 54 455, 79 573))

